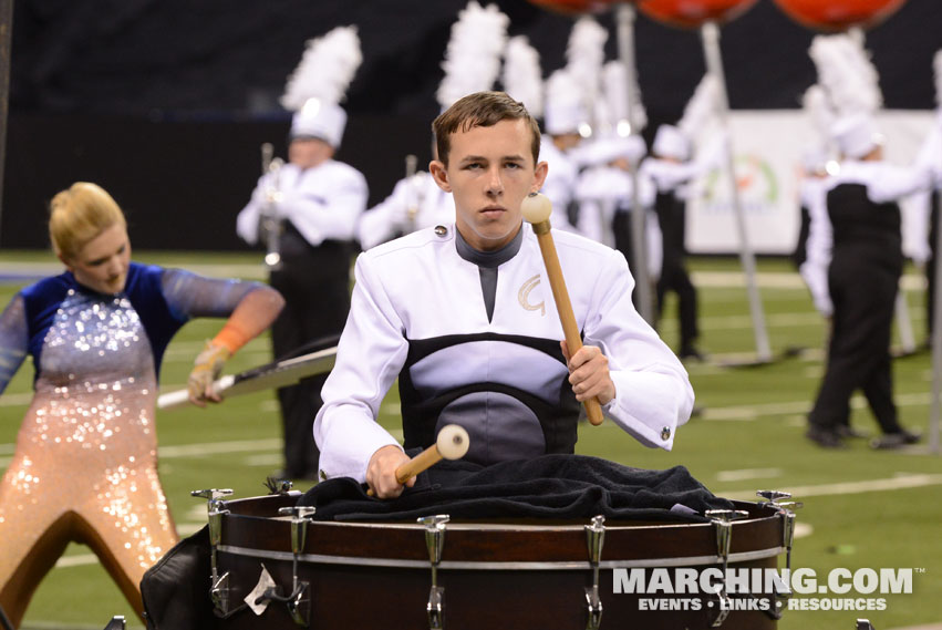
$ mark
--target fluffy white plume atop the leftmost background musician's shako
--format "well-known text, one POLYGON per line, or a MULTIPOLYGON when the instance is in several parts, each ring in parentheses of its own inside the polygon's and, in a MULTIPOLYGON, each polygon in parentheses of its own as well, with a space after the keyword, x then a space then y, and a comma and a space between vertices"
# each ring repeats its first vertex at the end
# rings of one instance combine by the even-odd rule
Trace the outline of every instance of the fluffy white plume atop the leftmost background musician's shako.
POLYGON ((356 27, 338 27, 308 40, 298 68, 288 78, 281 104, 297 112, 308 99, 340 103, 362 61, 356 27))

